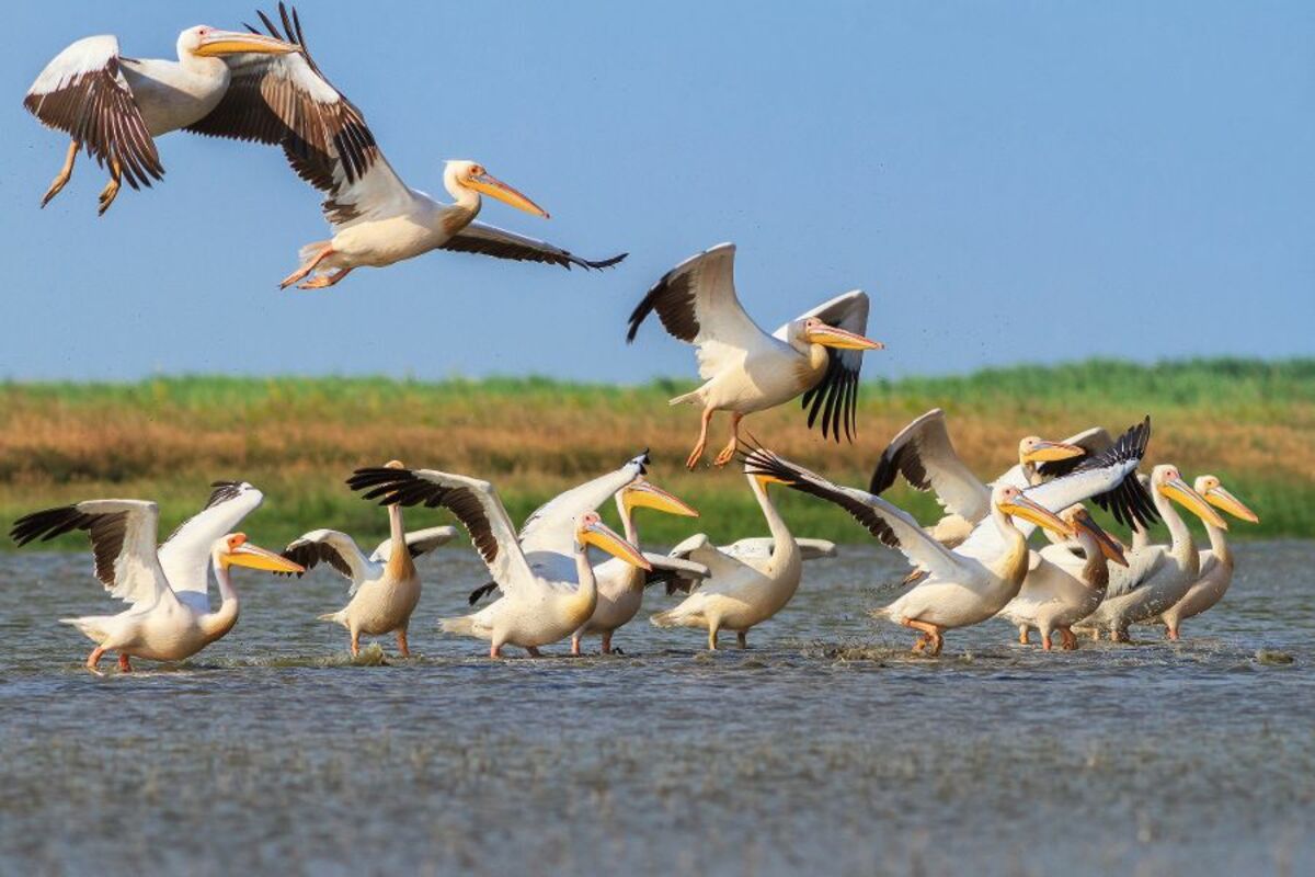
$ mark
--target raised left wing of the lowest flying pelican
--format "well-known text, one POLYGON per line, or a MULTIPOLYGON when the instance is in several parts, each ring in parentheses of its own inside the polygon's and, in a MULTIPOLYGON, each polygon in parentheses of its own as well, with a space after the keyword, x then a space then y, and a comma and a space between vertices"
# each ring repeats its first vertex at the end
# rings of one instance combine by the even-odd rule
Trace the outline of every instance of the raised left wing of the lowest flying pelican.
POLYGON ((627 343, 654 310, 673 338, 694 344, 704 380, 771 343, 735 297, 734 243, 719 243, 664 273, 630 314, 627 343))

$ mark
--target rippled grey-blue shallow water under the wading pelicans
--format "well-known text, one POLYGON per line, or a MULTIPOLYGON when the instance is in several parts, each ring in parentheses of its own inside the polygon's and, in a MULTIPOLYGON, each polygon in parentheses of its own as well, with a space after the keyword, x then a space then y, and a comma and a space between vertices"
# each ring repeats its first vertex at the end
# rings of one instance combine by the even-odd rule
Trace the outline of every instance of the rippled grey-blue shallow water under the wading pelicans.
POLYGON ((931 660, 865 614, 893 556, 846 547, 748 652, 651 593, 627 656, 493 663, 434 630, 485 580, 442 550, 423 657, 352 665, 330 572, 239 571, 226 639, 95 678, 54 621, 112 606, 89 557, 0 555, 0 872, 1312 873, 1312 561, 1243 546, 1180 644, 993 622, 931 660))

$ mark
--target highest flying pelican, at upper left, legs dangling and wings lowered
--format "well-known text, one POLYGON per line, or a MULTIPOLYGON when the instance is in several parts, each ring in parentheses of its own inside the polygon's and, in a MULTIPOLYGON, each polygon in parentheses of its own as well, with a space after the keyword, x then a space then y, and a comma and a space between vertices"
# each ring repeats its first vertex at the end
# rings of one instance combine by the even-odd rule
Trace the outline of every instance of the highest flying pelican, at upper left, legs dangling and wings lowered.
POLYGON ((229 64, 289 67, 297 62, 270 59, 296 51, 283 39, 208 25, 179 34, 178 60, 125 58, 118 38, 108 34, 72 43, 46 64, 22 101, 43 125, 72 138, 41 206, 68 183, 79 150, 101 167, 109 164, 109 183, 100 193, 104 214, 122 180, 135 189, 164 176, 154 141, 160 134, 201 126, 239 135, 231 126, 237 114, 258 117, 272 108, 259 91, 231 88, 229 64))

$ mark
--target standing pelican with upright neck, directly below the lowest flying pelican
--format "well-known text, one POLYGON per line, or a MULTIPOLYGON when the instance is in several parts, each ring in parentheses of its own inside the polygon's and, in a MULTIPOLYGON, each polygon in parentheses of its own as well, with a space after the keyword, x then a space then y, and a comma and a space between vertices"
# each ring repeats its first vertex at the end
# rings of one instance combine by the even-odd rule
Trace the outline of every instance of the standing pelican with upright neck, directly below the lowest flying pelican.
MULTIPOLYGON (((658 627, 707 630, 710 651, 717 651, 721 630, 734 630, 739 647, 748 648, 750 628, 781 611, 794 597, 803 576, 803 560, 835 554, 835 546, 828 542, 809 540, 805 548, 794 539, 767 493, 767 485, 776 477, 753 471, 751 462, 752 458, 746 462, 744 475, 767 518, 771 538, 718 548, 706 534, 698 534, 672 548, 673 557, 704 564, 710 575, 680 605, 650 619, 658 627)), ((668 588, 668 593, 673 590, 676 588, 668 588)))

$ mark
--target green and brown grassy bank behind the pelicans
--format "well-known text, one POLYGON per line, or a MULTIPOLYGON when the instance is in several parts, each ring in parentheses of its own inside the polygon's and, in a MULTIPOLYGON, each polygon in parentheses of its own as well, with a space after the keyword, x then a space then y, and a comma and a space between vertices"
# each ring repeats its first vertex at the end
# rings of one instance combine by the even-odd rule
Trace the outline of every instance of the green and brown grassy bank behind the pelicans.
MULTIPOLYGON (((556 492, 652 450, 652 479, 702 510, 693 522, 718 539, 764 534, 761 515, 734 471, 685 472, 697 433, 692 408, 667 400, 693 387, 638 387, 548 379, 444 380, 381 377, 159 377, 128 384, 0 384, 0 521, 92 497, 149 497, 162 531, 195 511, 217 479, 266 492, 247 522, 254 539, 277 546, 331 526, 385 535, 383 513, 343 486, 359 465, 397 458, 498 485, 523 518, 556 492)), ((960 455, 978 473, 1016 462, 1024 434, 1063 438, 1099 423, 1120 430, 1152 414, 1151 462, 1190 476, 1219 475, 1261 517, 1247 536, 1308 536, 1315 500, 1315 359, 1208 359, 1153 367, 1091 360, 1019 366, 956 377, 864 384, 860 435, 825 442, 805 429, 797 404, 752 415, 746 429, 773 450, 852 485, 865 485, 885 442, 932 406, 949 413, 960 455), (1013 458, 1013 459, 1011 459, 1013 458)), ((710 444, 723 440, 722 415, 710 444)), ((788 492, 782 492, 788 493, 788 492)), ((934 501, 901 486, 890 498, 922 518, 934 501)), ((801 535, 856 542, 865 535, 840 511, 780 497, 801 535)), ((442 521, 418 510, 416 526, 442 521)), ((671 543, 689 521, 648 513, 644 536, 671 543)), ((59 547, 83 547, 66 536, 59 547)))

